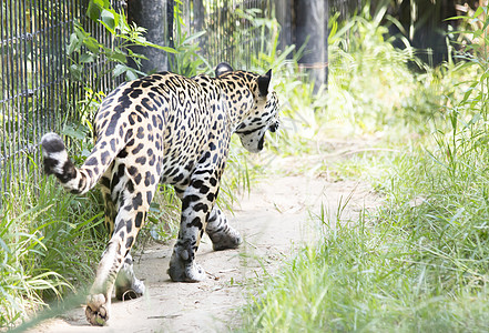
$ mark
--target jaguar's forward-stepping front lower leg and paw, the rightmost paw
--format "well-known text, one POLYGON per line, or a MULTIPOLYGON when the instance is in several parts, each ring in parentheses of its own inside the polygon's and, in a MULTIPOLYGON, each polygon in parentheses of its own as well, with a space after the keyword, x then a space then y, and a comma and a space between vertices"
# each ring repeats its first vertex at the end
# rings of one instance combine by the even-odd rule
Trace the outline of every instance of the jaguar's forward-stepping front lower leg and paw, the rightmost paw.
POLYGON ((205 228, 215 251, 236 249, 243 242, 240 233, 230 225, 226 215, 214 205, 205 228))

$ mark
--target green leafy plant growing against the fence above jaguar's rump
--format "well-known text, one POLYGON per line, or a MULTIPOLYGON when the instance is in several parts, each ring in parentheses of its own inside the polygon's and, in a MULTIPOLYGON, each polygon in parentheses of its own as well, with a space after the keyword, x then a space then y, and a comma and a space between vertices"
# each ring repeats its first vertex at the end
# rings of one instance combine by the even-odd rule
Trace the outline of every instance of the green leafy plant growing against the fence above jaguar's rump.
POLYGON ((91 0, 86 10, 86 17, 104 28, 110 42, 105 44, 96 40, 85 31, 80 22, 73 27, 67 52, 71 59, 70 73, 74 81, 82 84, 86 97, 78 101, 80 108, 75 107, 74 114, 67 113, 63 133, 72 139, 86 139, 93 131, 91 118, 94 110, 105 97, 102 91, 102 79, 112 73, 116 80, 121 75, 125 80, 134 80, 144 72, 131 67, 129 60, 141 67, 144 56, 132 51, 132 47, 157 48, 169 53, 176 53, 173 48, 157 46, 147 41, 144 37, 145 29, 136 24, 130 24, 124 11, 116 11, 112 8, 110 0, 91 0), (92 70, 96 67, 96 72, 92 70), (74 122, 71 122, 74 119, 74 122))

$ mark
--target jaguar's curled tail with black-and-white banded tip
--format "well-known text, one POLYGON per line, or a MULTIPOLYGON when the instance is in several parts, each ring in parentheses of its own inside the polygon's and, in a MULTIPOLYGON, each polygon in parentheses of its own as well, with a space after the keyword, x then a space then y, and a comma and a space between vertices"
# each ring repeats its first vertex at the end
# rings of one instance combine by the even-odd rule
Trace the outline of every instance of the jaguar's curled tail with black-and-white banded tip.
POLYGON ((44 172, 54 174, 72 193, 85 193, 92 189, 106 171, 121 148, 102 152, 96 144, 84 164, 77 168, 68 157, 63 140, 55 133, 41 139, 44 172))

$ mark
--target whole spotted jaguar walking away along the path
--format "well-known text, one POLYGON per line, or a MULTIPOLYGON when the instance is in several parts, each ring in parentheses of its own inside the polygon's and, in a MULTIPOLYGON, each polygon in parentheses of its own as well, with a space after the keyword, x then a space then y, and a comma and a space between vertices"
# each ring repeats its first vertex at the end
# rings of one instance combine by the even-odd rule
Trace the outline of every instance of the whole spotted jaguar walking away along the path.
POLYGON ((204 231, 215 250, 240 245, 238 232, 215 201, 232 133, 247 150, 258 152, 266 131, 278 127, 271 77, 272 71, 258 75, 222 63, 216 78, 162 72, 123 83, 102 102, 94 121, 94 149, 80 168, 59 135, 42 138, 45 172, 72 193, 85 193, 100 183, 105 201, 112 238, 86 302, 90 323, 106 323, 114 282, 119 299, 144 293, 130 251, 159 183, 172 184, 182 200, 179 239, 167 271, 173 281, 204 279, 195 262, 204 231))

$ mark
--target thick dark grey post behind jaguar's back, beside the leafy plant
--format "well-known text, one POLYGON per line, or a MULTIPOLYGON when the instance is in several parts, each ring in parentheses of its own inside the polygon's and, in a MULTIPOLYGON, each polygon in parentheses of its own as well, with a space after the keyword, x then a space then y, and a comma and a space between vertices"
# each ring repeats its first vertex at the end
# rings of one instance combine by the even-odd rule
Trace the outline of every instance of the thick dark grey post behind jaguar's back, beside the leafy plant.
MULTIPOLYGON (((159 46, 169 46, 169 31, 166 29, 166 9, 169 0, 131 0, 128 1, 128 19, 139 27, 147 29, 146 39, 159 46)), ((173 9, 173 8, 172 8, 173 9)), ((143 72, 159 72, 169 69, 167 53, 155 48, 133 47, 132 50, 143 54, 147 60, 142 60, 143 72)), ((131 64, 135 67, 135 63, 131 64)))

